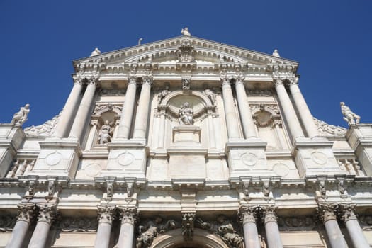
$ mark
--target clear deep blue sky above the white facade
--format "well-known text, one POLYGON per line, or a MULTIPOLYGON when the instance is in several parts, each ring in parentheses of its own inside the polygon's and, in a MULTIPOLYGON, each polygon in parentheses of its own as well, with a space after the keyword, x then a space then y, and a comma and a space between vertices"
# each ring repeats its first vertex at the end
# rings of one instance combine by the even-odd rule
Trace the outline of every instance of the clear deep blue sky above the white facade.
POLYGON ((39 125, 60 112, 72 60, 191 34, 300 62, 312 115, 346 126, 345 101, 372 123, 372 1, 10 1, 0 0, 0 123, 30 103, 39 125))

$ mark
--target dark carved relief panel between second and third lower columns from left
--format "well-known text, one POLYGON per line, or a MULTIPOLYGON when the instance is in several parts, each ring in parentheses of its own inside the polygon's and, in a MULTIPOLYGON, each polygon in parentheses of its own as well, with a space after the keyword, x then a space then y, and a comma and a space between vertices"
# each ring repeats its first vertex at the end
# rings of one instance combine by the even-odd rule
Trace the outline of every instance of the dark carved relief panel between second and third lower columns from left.
POLYGON ((62 218, 60 230, 62 232, 96 232, 98 220, 96 218, 62 218))

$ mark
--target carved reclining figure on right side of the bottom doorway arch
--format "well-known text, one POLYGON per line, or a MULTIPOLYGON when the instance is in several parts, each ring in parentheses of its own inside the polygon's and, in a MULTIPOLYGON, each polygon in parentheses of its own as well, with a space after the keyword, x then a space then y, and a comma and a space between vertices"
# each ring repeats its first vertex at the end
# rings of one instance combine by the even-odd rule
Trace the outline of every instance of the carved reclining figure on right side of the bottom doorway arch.
POLYGON ((204 222, 200 218, 197 220, 198 225, 205 230, 210 230, 220 235, 222 240, 230 244, 233 248, 243 248, 243 239, 234 230, 230 220, 227 220, 225 215, 219 215, 217 221, 209 223, 204 222))

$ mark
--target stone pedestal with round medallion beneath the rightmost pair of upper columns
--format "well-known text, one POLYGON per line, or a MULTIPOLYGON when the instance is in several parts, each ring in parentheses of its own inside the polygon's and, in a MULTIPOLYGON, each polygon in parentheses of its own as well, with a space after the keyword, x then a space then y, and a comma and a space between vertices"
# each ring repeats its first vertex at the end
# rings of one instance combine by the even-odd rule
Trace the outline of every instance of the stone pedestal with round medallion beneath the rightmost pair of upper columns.
POLYGON ((297 137, 293 146, 293 155, 298 174, 301 177, 345 174, 334 157, 332 145, 332 141, 322 138, 297 137))

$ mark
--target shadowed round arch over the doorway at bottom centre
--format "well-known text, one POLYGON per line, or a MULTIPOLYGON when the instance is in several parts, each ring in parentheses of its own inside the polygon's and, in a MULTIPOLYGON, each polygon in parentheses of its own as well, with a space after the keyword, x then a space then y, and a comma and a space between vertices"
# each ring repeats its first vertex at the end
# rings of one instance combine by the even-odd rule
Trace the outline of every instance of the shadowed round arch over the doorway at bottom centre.
POLYGON ((185 241, 181 228, 156 237, 151 248, 229 248, 218 235, 195 228, 193 240, 185 241))

